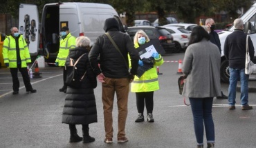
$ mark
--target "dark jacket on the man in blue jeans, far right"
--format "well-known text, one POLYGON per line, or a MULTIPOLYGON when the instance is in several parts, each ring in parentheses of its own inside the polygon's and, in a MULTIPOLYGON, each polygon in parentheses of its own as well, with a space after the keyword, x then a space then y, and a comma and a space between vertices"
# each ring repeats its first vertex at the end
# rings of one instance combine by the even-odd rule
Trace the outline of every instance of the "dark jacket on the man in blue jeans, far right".
MULTIPOLYGON (((224 55, 228 59, 230 68, 244 69, 246 63, 246 36, 242 30, 234 30, 229 34, 224 44, 224 55)), ((248 52, 253 60, 253 42, 248 37, 248 52)))

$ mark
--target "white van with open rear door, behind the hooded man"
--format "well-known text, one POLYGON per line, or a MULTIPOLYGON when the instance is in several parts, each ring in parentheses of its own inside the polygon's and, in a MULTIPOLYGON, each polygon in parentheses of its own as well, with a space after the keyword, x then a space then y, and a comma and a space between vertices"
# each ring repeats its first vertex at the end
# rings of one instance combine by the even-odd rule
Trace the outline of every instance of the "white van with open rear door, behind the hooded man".
POLYGON ((102 3, 47 3, 39 23, 37 6, 19 5, 19 32, 28 43, 32 58, 44 55, 47 63, 55 63, 60 47, 60 30, 68 26, 73 36, 88 36, 91 45, 104 34, 104 21, 115 17, 125 32, 116 10, 102 3))

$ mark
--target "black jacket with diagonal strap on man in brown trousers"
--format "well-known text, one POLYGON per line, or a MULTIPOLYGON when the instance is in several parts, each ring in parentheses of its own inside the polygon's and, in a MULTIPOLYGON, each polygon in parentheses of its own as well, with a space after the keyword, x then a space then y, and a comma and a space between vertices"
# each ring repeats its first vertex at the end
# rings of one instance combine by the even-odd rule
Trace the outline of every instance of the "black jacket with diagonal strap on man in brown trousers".
POLYGON ((116 28, 108 29, 110 36, 116 45, 118 45, 120 52, 116 50, 106 34, 98 37, 95 41, 90 53, 89 60, 91 67, 96 75, 101 72, 108 78, 128 78, 128 54, 131 57, 131 74, 136 74, 138 67, 138 52, 134 47, 129 35, 119 32, 116 28), (97 60, 100 56, 100 61, 97 60), (100 63, 100 68, 98 67, 100 63), (127 65, 127 66, 126 66, 127 65))

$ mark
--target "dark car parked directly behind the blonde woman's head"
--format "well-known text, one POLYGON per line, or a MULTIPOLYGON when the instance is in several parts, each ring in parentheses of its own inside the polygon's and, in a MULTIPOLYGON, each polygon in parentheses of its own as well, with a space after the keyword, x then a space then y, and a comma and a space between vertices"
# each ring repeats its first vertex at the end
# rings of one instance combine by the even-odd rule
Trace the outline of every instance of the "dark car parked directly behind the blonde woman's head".
POLYGON ((149 39, 158 39, 165 52, 177 52, 175 48, 174 38, 170 32, 165 28, 161 27, 151 27, 151 26, 136 26, 129 27, 127 33, 131 36, 131 39, 134 41, 134 35, 138 30, 143 30, 149 39))

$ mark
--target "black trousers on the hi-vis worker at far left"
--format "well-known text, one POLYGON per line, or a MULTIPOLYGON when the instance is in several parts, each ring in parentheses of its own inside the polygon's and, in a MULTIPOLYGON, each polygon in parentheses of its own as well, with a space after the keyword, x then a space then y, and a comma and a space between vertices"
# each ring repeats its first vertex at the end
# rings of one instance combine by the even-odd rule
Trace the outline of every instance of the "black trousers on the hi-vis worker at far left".
POLYGON ((15 92, 19 91, 18 70, 19 70, 19 72, 21 72, 23 82, 26 87, 26 91, 33 89, 32 85, 30 83, 30 78, 28 75, 27 67, 21 67, 20 65, 18 65, 17 68, 10 68, 10 74, 12 74, 12 83, 13 83, 12 89, 13 89, 13 91, 15 91, 15 92))

